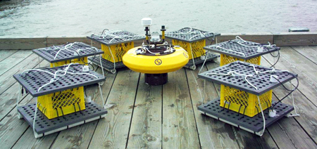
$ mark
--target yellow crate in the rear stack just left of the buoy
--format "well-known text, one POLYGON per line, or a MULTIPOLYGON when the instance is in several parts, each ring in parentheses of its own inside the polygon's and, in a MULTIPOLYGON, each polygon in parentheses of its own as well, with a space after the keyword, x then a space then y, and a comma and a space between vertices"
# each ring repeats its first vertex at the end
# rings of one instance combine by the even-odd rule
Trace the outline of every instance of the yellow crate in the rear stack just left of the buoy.
MULTIPOLYGON (((135 47, 134 42, 111 45, 110 49, 115 59, 115 62, 116 63, 121 62, 123 55, 125 55, 127 51, 129 51, 131 48, 134 48, 134 47, 135 47)), ((102 58, 109 60, 113 63, 113 58, 111 56, 111 52, 109 51, 108 46, 105 44, 101 44, 101 50, 104 51, 104 55, 102 55, 102 58)))

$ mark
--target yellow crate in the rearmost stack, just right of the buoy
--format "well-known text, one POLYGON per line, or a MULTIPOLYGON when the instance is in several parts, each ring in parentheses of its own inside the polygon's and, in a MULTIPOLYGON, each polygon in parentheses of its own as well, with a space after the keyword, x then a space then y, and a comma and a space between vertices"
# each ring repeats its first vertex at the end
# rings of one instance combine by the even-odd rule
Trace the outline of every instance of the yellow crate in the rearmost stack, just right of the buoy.
POLYGON ((204 50, 204 46, 206 46, 206 39, 192 43, 173 39, 172 43, 175 46, 184 48, 188 52, 189 60, 192 59, 192 54, 194 55, 194 58, 199 58, 200 56, 204 56, 206 53, 206 50, 204 50), (192 46, 192 52, 190 51, 190 46, 192 46))

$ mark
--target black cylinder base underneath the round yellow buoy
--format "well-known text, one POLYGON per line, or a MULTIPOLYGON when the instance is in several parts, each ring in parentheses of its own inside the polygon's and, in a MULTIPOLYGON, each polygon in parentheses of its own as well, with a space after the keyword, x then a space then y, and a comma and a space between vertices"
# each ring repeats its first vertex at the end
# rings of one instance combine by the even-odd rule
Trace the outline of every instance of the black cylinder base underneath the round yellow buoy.
POLYGON ((168 74, 145 74, 144 81, 146 84, 157 86, 168 82, 168 74))

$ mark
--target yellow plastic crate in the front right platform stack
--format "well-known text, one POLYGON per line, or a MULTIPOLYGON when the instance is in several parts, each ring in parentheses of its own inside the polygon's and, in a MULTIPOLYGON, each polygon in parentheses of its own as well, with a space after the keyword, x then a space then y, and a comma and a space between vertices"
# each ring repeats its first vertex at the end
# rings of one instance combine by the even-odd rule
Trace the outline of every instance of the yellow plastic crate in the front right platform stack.
MULTIPOLYGON (((260 97, 262 110, 270 108, 272 105, 272 90, 263 93, 260 97)), ((261 109, 258 97, 252 93, 247 93, 229 86, 220 86, 220 107, 240 112, 249 117, 254 117, 261 109), (245 110, 245 111, 244 111, 245 110)))

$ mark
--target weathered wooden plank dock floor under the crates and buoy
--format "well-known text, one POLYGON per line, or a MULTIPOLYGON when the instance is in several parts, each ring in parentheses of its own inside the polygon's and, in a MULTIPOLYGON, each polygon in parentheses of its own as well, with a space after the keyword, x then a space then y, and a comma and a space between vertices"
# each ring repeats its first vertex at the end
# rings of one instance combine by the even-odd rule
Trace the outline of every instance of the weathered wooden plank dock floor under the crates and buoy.
MULTIPOLYGON (((197 70, 182 68, 168 73, 163 86, 144 84, 144 74, 128 69, 106 74, 102 86, 106 104, 114 104, 104 119, 73 127, 42 138, 18 119, 15 110, 18 83, 13 74, 39 67, 30 50, 0 51, 0 146, 1 148, 317 148, 317 46, 285 46, 280 51, 278 69, 299 74, 299 89, 294 98, 300 117, 282 118, 268 127, 262 137, 201 115, 204 80, 197 70)), ((41 67, 49 63, 40 59, 41 67)), ((269 66, 273 58, 261 60, 269 66)), ((203 71, 218 67, 207 63, 203 71)), ((100 73, 101 70, 99 69, 100 73)), ((294 82, 294 85, 296 82, 294 82)), ((286 84, 289 86, 289 84, 286 84)), ((87 93, 91 95, 95 88, 87 93)), ((220 85, 206 82, 206 101, 219 96, 220 85)), ((285 96, 282 86, 273 90, 285 96)), ((19 104, 35 103, 25 95, 19 104)), ((94 101, 101 104, 99 93, 94 101)), ((283 101, 291 103, 288 97, 283 101)))

